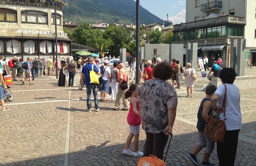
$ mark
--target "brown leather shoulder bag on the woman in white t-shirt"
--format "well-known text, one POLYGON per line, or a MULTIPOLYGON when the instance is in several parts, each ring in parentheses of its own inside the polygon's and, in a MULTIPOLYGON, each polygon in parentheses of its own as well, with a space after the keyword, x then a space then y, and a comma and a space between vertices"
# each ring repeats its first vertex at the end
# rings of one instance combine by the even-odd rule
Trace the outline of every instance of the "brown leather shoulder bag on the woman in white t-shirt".
POLYGON ((225 137, 225 112, 226 112, 226 103, 227 103, 227 86, 225 86, 225 94, 224 94, 224 100, 222 104, 222 109, 224 111, 224 120, 220 120, 214 115, 214 111, 210 114, 206 127, 204 128, 204 134, 209 137, 211 140, 213 140, 216 143, 224 143, 224 137, 225 137))

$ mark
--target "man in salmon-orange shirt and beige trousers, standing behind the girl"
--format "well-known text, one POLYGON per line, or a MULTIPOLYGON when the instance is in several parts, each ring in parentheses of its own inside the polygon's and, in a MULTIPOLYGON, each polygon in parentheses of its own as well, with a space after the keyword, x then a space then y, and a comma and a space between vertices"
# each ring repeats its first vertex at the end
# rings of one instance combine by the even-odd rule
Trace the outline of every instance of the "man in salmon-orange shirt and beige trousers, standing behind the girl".
POLYGON ((120 87, 120 84, 123 82, 123 80, 126 81, 127 83, 129 81, 128 73, 127 73, 126 69, 124 69, 123 63, 119 64, 119 72, 117 74, 117 79, 118 79, 118 87, 117 87, 117 94, 116 94, 116 103, 114 103, 115 107, 113 110, 120 111, 120 100, 122 97, 123 98, 123 109, 122 110, 128 111, 129 110, 128 99, 125 99, 125 97, 123 96, 125 90, 122 90, 120 87))

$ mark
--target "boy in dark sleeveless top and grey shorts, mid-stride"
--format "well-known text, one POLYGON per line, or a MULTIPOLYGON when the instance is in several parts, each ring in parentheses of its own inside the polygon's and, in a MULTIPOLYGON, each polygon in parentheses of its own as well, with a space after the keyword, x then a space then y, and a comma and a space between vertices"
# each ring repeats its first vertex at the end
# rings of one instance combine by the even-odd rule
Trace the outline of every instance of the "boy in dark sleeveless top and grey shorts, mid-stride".
POLYGON ((206 135, 204 135, 204 127, 206 127, 208 116, 211 114, 211 96, 213 96, 215 90, 217 89, 216 86, 210 85, 206 88, 206 97, 201 101, 200 107, 197 113, 197 129, 199 134, 199 141, 196 147, 194 148, 193 152, 188 154, 188 158, 195 164, 200 165, 197 161, 197 154, 206 147, 204 151, 204 159, 202 165, 215 165, 209 161, 211 153, 214 150, 214 142, 210 140, 206 135))

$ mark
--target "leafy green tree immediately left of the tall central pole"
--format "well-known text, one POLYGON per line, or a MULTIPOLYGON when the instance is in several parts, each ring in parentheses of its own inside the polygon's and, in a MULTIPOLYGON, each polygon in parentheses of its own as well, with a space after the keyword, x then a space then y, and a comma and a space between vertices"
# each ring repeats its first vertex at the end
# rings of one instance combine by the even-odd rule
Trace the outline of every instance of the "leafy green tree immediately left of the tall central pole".
POLYGON ((120 48, 127 48, 127 45, 132 41, 131 29, 122 26, 116 26, 113 23, 103 33, 104 39, 112 39, 112 46, 109 46, 111 55, 119 55, 120 48))

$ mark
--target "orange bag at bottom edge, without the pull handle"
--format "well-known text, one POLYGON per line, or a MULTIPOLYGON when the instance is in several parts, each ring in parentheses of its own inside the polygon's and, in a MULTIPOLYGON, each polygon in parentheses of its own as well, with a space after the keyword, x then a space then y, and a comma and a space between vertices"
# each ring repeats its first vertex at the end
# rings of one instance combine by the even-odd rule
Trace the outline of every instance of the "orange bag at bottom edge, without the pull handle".
POLYGON ((145 166, 145 165, 150 165, 150 166, 166 166, 166 163, 157 158, 156 155, 150 154, 149 157, 142 157, 139 160, 139 163, 137 166, 145 166))

